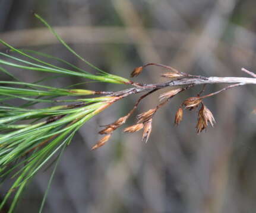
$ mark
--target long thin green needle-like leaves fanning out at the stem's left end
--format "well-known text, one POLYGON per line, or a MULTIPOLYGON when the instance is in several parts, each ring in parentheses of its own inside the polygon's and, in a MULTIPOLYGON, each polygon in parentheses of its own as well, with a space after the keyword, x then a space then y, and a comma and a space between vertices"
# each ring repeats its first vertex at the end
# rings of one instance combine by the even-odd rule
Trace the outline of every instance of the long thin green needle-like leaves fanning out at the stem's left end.
MULTIPOLYGON (((39 53, 32 50, 19 50, 0 40, 11 53, 17 53, 25 59, 14 57, 10 54, 0 53, 2 56, 0 64, 2 66, 16 67, 21 70, 34 70, 47 73, 55 73, 65 76, 79 76, 81 78, 92 79, 106 83, 128 83, 129 80, 119 76, 110 75, 103 72, 98 67, 84 60, 75 53, 68 44, 59 37, 50 25, 39 15, 34 14, 36 18, 43 22, 46 27, 56 36, 56 38, 79 59, 98 72, 98 75, 86 72, 79 67, 74 66, 48 54, 39 53), (49 59, 55 59, 67 64, 70 69, 64 69, 59 66, 47 63, 37 57, 43 56, 49 59), (31 62, 32 61, 32 62, 31 62)), ((39 83, 46 80, 40 80, 35 83, 26 83, 15 78, 8 70, 0 66, 0 71, 10 76, 12 81, 0 81, 0 176, 4 180, 12 178, 14 183, 5 198, 0 204, 0 209, 6 204, 10 196, 14 194, 12 203, 8 212, 13 212, 21 193, 26 188, 27 183, 36 173, 45 166, 53 157, 57 157, 55 168, 50 177, 48 189, 43 198, 40 212, 42 212, 45 203, 46 194, 49 191, 50 182, 56 170, 61 154, 65 147, 71 142, 75 132, 90 118, 101 112, 112 101, 111 96, 100 96, 93 98, 78 98, 58 101, 56 98, 63 96, 81 96, 94 95, 95 91, 84 89, 62 89, 51 86, 43 86, 39 83), (25 104, 12 105, 10 100, 23 99, 25 104), (72 102, 72 104, 56 105, 48 108, 37 109, 35 106, 40 102, 49 102, 59 104, 59 102, 72 102)), ((57 78, 58 76, 53 76, 57 78)), ((79 85, 79 84, 78 84, 79 85)), ((74 86, 74 85, 73 85, 74 86)), ((100 92, 98 92, 100 93, 100 92)), ((0 186, 1 186, 0 185, 0 186)))

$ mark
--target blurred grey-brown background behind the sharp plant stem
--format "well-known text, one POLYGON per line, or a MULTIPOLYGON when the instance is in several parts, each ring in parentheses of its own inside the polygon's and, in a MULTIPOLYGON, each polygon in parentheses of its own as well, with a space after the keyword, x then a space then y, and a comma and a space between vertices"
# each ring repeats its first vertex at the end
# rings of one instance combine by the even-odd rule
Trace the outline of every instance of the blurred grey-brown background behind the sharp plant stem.
MULTIPOLYGON (((94 72, 58 43, 33 17, 33 10, 86 60, 115 75, 129 78, 134 67, 154 62, 192 75, 249 77, 241 67, 256 71, 255 7, 254 0, 0 0, 0 38, 94 72)), ((9 71, 26 82, 45 75, 9 71)), ((148 67, 136 81, 161 82, 162 72, 148 67)), ((82 81, 60 78, 46 84, 63 87, 82 81)), ((205 93, 223 86, 207 86, 205 93)), ((91 83, 80 88, 118 91, 127 86, 91 83)), ((59 163, 44 212, 254 212, 255 87, 208 98, 205 104, 216 126, 198 135, 197 111, 186 111, 179 127, 173 120, 181 102, 200 89, 176 96, 157 112, 147 144, 141 142, 141 132, 123 134, 118 129, 105 146, 90 151, 100 138, 99 125, 127 114, 139 96, 87 122, 59 163)), ((147 97, 137 113, 157 102, 157 94, 147 97)), ((134 122, 132 117, 125 127, 134 122)), ((17 212, 38 211, 51 171, 34 178, 17 212)), ((0 199, 3 196, 0 192, 0 199)))

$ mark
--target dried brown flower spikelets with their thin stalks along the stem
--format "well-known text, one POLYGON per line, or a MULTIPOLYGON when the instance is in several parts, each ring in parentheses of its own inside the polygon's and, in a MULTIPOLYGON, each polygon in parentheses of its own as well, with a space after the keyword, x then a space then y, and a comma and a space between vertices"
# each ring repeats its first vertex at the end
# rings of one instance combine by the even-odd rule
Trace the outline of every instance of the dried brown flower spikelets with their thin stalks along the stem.
MULTIPOLYGON (((173 69, 172 67, 169 66, 165 66, 162 64, 155 64, 155 63, 150 63, 150 64, 146 64, 144 66, 140 66, 140 67, 136 67, 132 73, 131 73, 131 77, 135 77, 140 75, 140 73, 143 71, 144 67, 146 66, 150 66, 150 65, 154 65, 154 66, 160 66, 160 67, 164 67, 165 69, 167 69, 169 72, 163 73, 161 76, 164 78, 171 78, 174 80, 179 80, 181 78, 201 78, 200 76, 192 76, 192 75, 188 75, 186 73, 182 73, 179 72, 176 69, 173 69)), ((201 78, 203 79, 203 77, 201 78)), ((141 85, 140 83, 134 83, 135 86, 139 86, 143 88, 143 85, 141 85)), ((192 83, 191 85, 187 85, 187 87, 180 87, 180 88, 176 88, 176 89, 171 89, 170 91, 164 92, 159 96, 159 101, 160 104, 157 105, 155 108, 153 109, 149 109, 146 112, 143 112, 141 114, 137 115, 137 124, 131 125, 127 128, 124 128, 124 132, 125 133, 135 133, 137 131, 140 131, 143 129, 143 136, 142 136, 142 140, 143 141, 148 141, 148 138, 150 137, 150 133, 152 131, 152 121, 153 121, 153 115, 156 114, 157 110, 159 108, 161 108, 163 105, 165 105, 170 99, 172 99, 174 96, 178 95, 180 92, 183 92, 189 88, 191 88, 192 86, 194 86, 192 83)), ((236 85, 231 85, 231 86, 227 86, 226 88, 223 88, 220 91, 214 92, 214 93, 210 93, 208 95, 204 95, 201 96, 201 93, 204 92, 204 88, 202 89, 202 91, 197 95, 197 96, 192 96, 190 98, 185 99, 181 106, 178 108, 178 110, 176 111, 175 114, 175 120, 174 120, 174 124, 175 125, 179 125, 184 117, 184 109, 188 109, 189 111, 192 111, 192 109, 196 109, 198 108, 198 106, 201 105, 201 108, 198 110, 198 114, 197 114, 197 125, 196 125, 196 130, 197 133, 201 133, 201 131, 206 130, 208 124, 210 123, 210 125, 213 127, 214 125, 214 117, 213 114, 211 113, 210 109, 208 109, 206 107, 206 105, 204 105, 203 103, 203 99, 207 98, 209 96, 213 96, 216 95, 219 92, 225 91, 226 89, 229 88, 233 88, 235 86, 239 86, 239 84, 236 85)), ((145 98, 147 95, 157 91, 158 89, 162 89, 164 87, 160 87, 157 89, 152 88, 150 92, 146 93, 145 95, 141 96, 140 99, 138 99, 137 103, 135 104, 134 108, 124 117, 119 118, 118 120, 116 120, 115 122, 113 122, 112 124, 108 124, 105 125, 105 128, 101 131, 99 131, 99 134, 106 134, 104 137, 102 137, 95 146, 93 146, 93 150, 97 149, 100 146, 103 146, 103 144, 106 143, 106 141, 109 140, 110 135, 113 133, 113 131, 115 131, 117 128, 121 127, 123 124, 125 124, 125 122, 128 120, 128 118, 130 117, 130 115, 135 111, 135 109, 137 109, 137 105, 138 103, 141 101, 141 99, 145 98)), ((119 93, 118 93, 119 95, 119 93)), ((124 94, 122 94, 124 95, 124 94)), ((126 96, 126 95, 124 95, 126 96)), ((256 111, 256 109, 255 109, 256 111)))

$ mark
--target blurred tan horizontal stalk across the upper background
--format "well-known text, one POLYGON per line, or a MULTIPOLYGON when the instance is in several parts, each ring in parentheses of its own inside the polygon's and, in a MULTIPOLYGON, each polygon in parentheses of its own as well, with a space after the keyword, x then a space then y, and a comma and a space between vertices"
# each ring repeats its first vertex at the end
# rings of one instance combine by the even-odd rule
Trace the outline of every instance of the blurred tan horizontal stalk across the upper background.
MULTIPOLYGON (((133 44, 136 41, 130 35, 137 31, 136 27, 81 27, 67 26, 55 27, 56 32, 67 43, 124 43, 133 44)), ((170 47, 181 42, 187 36, 170 30, 159 30, 147 28, 146 33, 152 43, 160 47, 170 47), (161 40, 159 40, 161 38, 161 40)), ((196 35, 194 35, 196 37, 196 35)), ((58 40, 49 33, 47 28, 33 28, 25 30, 14 30, 0 33, 0 38, 15 47, 40 46, 56 44, 58 40), (17 37, 18 35, 18 37, 17 37)), ((151 42, 150 42, 151 43, 151 42)), ((147 40, 141 40, 141 45, 147 45, 147 40)), ((1 47, 1 46, 0 46, 1 47)), ((147 60, 151 61, 151 60, 147 60)))

